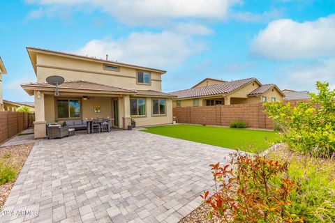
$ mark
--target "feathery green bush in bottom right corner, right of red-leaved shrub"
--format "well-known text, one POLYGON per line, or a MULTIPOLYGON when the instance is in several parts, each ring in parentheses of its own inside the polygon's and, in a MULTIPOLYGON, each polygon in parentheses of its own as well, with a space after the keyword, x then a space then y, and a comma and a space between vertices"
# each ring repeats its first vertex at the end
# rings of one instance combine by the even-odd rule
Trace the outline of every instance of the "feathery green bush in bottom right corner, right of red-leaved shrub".
POLYGON ((335 157, 301 155, 287 149, 271 151, 271 159, 288 162, 288 175, 299 190, 290 193, 288 212, 304 222, 335 222, 335 157))

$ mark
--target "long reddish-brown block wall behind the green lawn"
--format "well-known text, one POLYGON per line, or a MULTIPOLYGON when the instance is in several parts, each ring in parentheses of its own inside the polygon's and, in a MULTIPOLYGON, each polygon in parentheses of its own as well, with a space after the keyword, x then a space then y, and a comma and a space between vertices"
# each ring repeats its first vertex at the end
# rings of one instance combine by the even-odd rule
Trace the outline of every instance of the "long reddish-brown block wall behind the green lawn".
MULTIPOLYGON (((290 101, 292 107, 299 101, 290 101)), ((229 126, 233 121, 242 120, 248 128, 261 128, 272 130, 274 123, 263 112, 262 103, 240 105, 215 105, 199 107, 175 107, 173 116, 178 123, 190 123, 200 125, 229 126)))

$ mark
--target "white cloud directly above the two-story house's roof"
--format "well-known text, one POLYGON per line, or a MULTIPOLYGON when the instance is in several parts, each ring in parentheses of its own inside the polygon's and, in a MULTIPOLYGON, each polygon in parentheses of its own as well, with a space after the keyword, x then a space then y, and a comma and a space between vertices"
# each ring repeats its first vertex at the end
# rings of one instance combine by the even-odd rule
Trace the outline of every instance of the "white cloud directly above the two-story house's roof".
POLYGON ((169 68, 207 49, 205 43, 171 32, 131 33, 127 38, 91 40, 76 53, 135 63, 142 66, 169 68))

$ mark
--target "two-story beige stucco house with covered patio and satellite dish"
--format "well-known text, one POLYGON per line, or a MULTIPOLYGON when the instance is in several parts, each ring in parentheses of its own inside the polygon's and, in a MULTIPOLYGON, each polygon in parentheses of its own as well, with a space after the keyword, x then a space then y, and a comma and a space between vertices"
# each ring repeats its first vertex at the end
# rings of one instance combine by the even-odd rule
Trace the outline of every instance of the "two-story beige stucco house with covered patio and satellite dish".
POLYGON ((127 128, 172 123, 172 98, 161 92, 164 70, 27 47, 37 82, 22 84, 35 97, 35 137, 45 137, 45 123, 114 118, 112 126, 127 128), (64 77, 56 87, 52 75, 64 77))

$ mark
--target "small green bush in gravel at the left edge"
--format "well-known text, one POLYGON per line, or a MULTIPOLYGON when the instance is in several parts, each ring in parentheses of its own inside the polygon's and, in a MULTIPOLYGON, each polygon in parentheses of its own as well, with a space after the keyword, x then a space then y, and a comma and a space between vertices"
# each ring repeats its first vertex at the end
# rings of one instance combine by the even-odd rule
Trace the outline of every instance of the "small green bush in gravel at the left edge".
POLYGON ((8 154, 4 155, 0 160, 0 185, 16 177, 17 167, 13 165, 13 160, 10 159, 11 155, 8 154))

